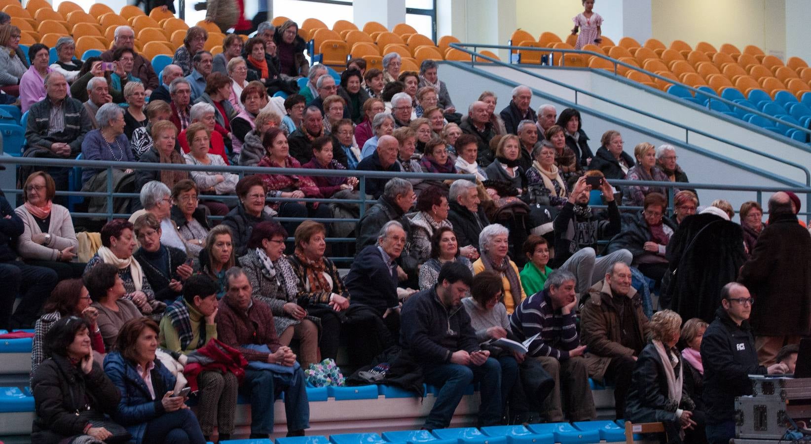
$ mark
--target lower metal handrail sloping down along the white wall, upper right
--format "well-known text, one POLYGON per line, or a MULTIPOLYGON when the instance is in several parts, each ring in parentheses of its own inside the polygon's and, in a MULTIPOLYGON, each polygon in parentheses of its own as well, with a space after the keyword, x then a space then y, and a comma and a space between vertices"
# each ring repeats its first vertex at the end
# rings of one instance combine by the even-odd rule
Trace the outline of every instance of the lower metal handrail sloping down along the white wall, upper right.
MULTIPOLYGON (((466 44, 461 44, 461 45, 466 45, 466 44)), ((573 87, 571 87, 569 85, 562 84, 562 83, 558 82, 557 80, 549 79, 549 78, 547 78, 547 77, 545 77, 543 75, 539 75, 539 74, 537 74, 535 72, 532 72, 532 71, 527 71, 527 70, 525 70, 525 69, 523 69, 521 67, 516 67, 515 65, 501 62, 498 59, 490 58, 490 57, 487 57, 486 55, 476 54, 476 53, 473 53, 470 50, 466 50, 464 48, 458 48, 458 49, 463 50, 468 54, 473 54, 474 58, 475 57, 486 58, 487 60, 491 61, 492 63, 496 63, 496 64, 498 64, 500 66, 504 66, 504 67, 509 67, 510 69, 519 71, 519 72, 521 72, 523 74, 534 76, 534 77, 539 78, 541 80, 547 80, 547 81, 549 81, 549 82, 551 82, 553 84, 560 84, 561 86, 564 86, 565 88, 572 88, 572 89, 576 89, 577 91, 581 91, 578 88, 573 88, 573 87)), ((452 65, 459 64, 458 66, 466 67, 466 63, 462 63, 462 62, 459 62, 459 61, 446 61, 446 63, 452 64, 452 65)), ((472 68, 475 69, 476 67, 472 66, 472 68)), ((487 75, 490 75, 490 74, 487 73, 487 75)), ((562 99, 560 97, 553 97, 550 94, 544 93, 543 91, 539 91, 538 89, 535 89, 535 88, 531 88, 531 89, 533 90, 533 93, 536 96, 543 97, 543 98, 546 98, 548 100, 560 102, 564 106, 570 106, 570 107, 576 107, 577 106, 577 103, 572 103, 572 102, 566 101, 566 100, 564 100, 564 99, 562 99)), ((783 163, 784 165, 792 166, 794 168, 797 168, 798 170, 801 170, 803 172, 803 174, 805 175, 805 184, 806 185, 811 185, 811 172, 809 172, 809 169, 806 168, 804 165, 802 165, 800 163, 787 161, 783 157, 778 157, 778 156, 775 156, 774 154, 771 154, 771 153, 766 153, 766 152, 763 152, 763 151, 760 151, 760 150, 757 150, 757 149, 753 149, 753 148, 750 148, 750 147, 748 147, 746 145, 739 144, 737 142, 733 142, 732 140, 726 140, 726 139, 723 139, 723 138, 721 138, 719 136, 714 136, 712 134, 706 133, 704 131, 697 131, 697 130, 693 129, 692 127, 685 127, 684 125, 682 125, 680 123, 676 123, 676 122, 672 122, 672 121, 667 120, 667 119, 663 119, 663 118, 661 118, 661 117, 659 117, 657 115, 650 114, 650 113, 648 113, 646 111, 637 110, 637 109, 635 109, 635 108, 633 108, 631 106, 627 106, 627 105, 624 105, 624 104, 616 102, 616 101, 611 101, 611 99, 607 99, 605 97, 602 97, 602 96, 599 96, 599 95, 596 95, 596 94, 593 94, 593 93, 588 93, 588 92, 585 92, 585 91, 583 93, 586 93, 587 95, 595 97, 595 98, 597 98, 599 100, 607 101, 608 103, 611 103, 613 105, 620 106, 620 107, 626 108, 628 110, 632 110, 632 111, 636 112, 637 114, 642 114, 642 115, 648 116, 648 117, 650 117, 652 119, 659 119, 660 121, 663 121, 665 123, 671 123, 672 125, 674 125, 676 127, 684 128, 684 130, 685 130, 685 139, 689 139, 689 137, 687 137, 687 135, 689 134, 689 131, 693 131, 699 136, 706 136, 706 137, 708 137, 710 139, 717 140, 717 141, 719 141, 721 143, 732 145, 732 146, 734 146, 734 147, 736 147, 738 149, 743 149, 746 152, 757 154, 758 156, 766 157, 767 159, 773 160, 775 162, 783 163)), ((587 110, 586 108, 583 108, 583 107, 579 107, 579 108, 580 108, 581 111, 587 110)), ((633 123, 628 123, 628 122, 621 121, 620 119, 616 119, 616 118, 614 118, 612 116, 608 116, 607 114, 605 114, 603 112, 600 112, 600 111, 597 111, 597 110, 587 110, 586 112, 588 114, 599 115, 599 116, 601 116, 601 119, 604 119, 604 120, 608 120, 608 121, 611 121, 611 122, 614 122, 614 123, 620 123, 620 124, 629 125, 631 127, 636 127, 635 128, 636 131, 642 132, 643 134, 648 134, 649 136, 657 137, 659 139, 662 139, 662 140, 667 141, 667 142, 672 143, 672 144, 684 146, 685 148, 693 150, 693 151, 701 151, 707 156, 720 157, 720 156, 716 155, 715 153, 707 152, 705 149, 701 149, 701 148, 696 147, 696 146, 694 146, 692 144, 689 144, 689 141, 687 141, 687 140, 685 140, 684 142, 681 142, 680 140, 673 139, 671 136, 663 135, 663 134, 660 134, 660 133, 654 133, 653 131, 647 130, 646 128, 638 127, 637 125, 633 125, 633 123)), ((749 166, 741 166, 741 167, 747 168, 749 166)))

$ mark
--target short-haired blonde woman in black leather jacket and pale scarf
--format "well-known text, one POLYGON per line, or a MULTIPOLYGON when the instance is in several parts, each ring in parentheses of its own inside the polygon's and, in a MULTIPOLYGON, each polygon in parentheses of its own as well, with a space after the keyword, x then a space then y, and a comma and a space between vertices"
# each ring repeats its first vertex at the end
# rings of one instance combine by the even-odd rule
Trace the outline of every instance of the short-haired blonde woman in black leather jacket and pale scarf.
POLYGON ((650 343, 633 370, 625 419, 663 423, 667 442, 706 442, 704 412, 684 390, 684 360, 676 349, 681 317, 663 310, 654 313, 648 325, 650 343))

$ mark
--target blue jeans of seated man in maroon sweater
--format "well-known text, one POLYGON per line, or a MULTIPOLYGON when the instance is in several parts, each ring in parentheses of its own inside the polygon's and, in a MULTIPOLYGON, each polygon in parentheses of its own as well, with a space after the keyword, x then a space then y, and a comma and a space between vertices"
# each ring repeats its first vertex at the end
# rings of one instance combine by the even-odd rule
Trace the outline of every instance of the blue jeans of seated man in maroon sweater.
POLYGON ((251 399, 251 433, 273 433, 273 403, 281 392, 285 392, 287 430, 310 428, 310 403, 301 368, 292 375, 245 369, 245 381, 239 390, 251 399))

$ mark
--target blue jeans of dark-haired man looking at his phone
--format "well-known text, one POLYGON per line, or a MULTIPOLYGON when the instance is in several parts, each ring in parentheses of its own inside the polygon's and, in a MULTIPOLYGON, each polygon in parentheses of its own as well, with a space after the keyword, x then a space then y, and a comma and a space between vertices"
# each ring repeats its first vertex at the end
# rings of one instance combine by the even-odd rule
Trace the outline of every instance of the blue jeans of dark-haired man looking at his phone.
POLYGON ((441 364, 423 369, 425 381, 441 387, 436 403, 425 420, 426 429, 444 429, 472 382, 481 383, 482 404, 478 407, 478 425, 498 425, 501 421, 501 365, 487 358, 482 365, 441 364))

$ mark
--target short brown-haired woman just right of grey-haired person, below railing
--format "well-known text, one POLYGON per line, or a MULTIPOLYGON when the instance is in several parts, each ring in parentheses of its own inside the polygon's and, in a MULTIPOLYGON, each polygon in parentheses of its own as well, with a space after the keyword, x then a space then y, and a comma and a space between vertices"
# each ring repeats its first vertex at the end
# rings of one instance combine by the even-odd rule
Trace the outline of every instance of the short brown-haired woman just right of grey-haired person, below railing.
POLYGON ((172 187, 170 217, 178 227, 180 237, 186 242, 187 252, 193 257, 200 256, 208 230, 211 229, 205 208, 198 205, 197 196, 200 196, 200 190, 191 179, 181 180, 172 187))

